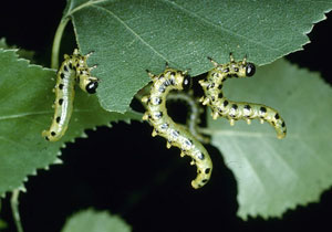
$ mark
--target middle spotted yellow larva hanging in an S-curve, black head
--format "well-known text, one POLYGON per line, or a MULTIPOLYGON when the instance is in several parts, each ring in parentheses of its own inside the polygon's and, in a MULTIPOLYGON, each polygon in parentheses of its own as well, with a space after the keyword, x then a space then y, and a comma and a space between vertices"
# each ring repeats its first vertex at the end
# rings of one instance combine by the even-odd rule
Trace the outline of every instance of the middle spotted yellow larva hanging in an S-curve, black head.
POLYGON ((148 120, 153 127, 153 136, 159 135, 167 139, 167 148, 172 146, 181 150, 181 157, 193 158, 191 165, 197 166, 197 177, 191 186, 203 187, 210 178, 212 162, 204 146, 185 128, 173 122, 167 115, 166 96, 169 91, 181 91, 190 85, 190 77, 186 72, 166 67, 159 75, 148 73, 153 80, 151 95, 142 98, 147 104, 147 112, 143 119, 148 120))

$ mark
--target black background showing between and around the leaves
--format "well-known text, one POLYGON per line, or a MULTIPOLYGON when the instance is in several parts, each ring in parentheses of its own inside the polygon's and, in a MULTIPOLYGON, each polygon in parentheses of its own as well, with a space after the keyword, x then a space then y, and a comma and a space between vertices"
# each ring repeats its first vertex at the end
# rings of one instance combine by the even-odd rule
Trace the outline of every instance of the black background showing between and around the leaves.
MULTIPOLYGON (((12 1, 1 7, 0 38, 35 51, 37 60, 49 66, 64 7, 65 1, 12 1)), ((309 34, 312 42, 305 50, 288 56, 300 66, 321 72, 328 82, 332 74, 331 25, 331 19, 320 22, 309 34)), ((66 52, 74 48, 70 27, 68 32, 62 48, 66 52)), ((62 149, 63 165, 29 177, 28 192, 20 197, 25 232, 60 231, 69 215, 91 207, 120 214, 134 232, 332 230, 331 189, 319 203, 289 210, 283 219, 249 218, 245 222, 236 215, 235 177, 216 148, 207 146, 215 167, 211 181, 194 190, 190 181, 196 168, 188 165, 189 159, 179 158, 178 149, 167 150, 164 139, 152 138, 151 131, 146 123, 120 123, 112 129, 87 130, 89 139, 68 144, 62 149)), ((9 223, 8 231, 15 231, 8 202, 7 197, 0 217, 9 223)))

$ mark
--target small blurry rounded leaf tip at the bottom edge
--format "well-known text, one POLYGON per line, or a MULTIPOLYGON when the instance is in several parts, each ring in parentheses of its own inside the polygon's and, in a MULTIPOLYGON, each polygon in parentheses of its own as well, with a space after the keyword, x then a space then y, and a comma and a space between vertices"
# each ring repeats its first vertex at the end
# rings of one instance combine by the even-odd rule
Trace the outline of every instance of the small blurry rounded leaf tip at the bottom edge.
POLYGON ((120 217, 108 212, 85 210, 72 215, 62 232, 129 232, 131 226, 120 217))

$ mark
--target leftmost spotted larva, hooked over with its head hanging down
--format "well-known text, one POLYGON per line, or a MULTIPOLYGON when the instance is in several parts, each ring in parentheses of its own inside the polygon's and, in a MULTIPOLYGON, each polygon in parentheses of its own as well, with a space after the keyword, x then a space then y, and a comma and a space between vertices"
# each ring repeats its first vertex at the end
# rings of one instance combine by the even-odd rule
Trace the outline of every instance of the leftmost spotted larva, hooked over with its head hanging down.
POLYGON ((91 76, 91 70, 95 66, 89 67, 86 64, 91 54, 81 55, 75 49, 73 55, 64 55, 64 61, 56 74, 56 85, 53 88, 55 92, 54 117, 50 129, 42 131, 42 136, 49 141, 58 141, 68 129, 73 112, 75 83, 89 94, 95 93, 98 86, 98 78, 91 76))

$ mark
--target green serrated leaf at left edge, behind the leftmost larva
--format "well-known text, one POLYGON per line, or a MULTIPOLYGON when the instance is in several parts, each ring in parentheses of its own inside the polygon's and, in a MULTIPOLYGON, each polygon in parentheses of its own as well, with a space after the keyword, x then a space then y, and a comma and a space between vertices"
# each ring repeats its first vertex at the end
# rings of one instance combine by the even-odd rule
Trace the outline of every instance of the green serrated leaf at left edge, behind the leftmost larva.
POLYGON ((84 129, 110 122, 141 119, 136 113, 108 113, 100 107, 97 98, 77 89, 74 113, 66 135, 56 143, 41 136, 48 129, 54 112, 52 88, 55 71, 31 65, 18 59, 15 50, 0 49, 0 196, 13 189, 23 189, 28 175, 37 169, 59 164, 60 148, 65 141, 85 136, 84 129))

